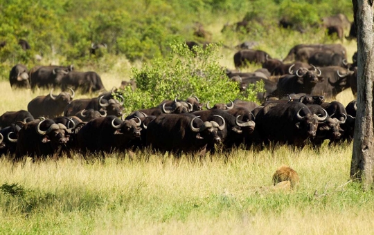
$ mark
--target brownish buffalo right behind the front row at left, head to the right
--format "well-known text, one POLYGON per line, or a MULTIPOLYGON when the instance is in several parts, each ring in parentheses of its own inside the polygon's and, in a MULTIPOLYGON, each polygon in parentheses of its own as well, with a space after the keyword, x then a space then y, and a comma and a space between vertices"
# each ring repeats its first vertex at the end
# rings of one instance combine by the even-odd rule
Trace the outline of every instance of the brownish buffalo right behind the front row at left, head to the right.
POLYGON ((69 89, 71 90, 71 94, 62 92, 59 95, 53 95, 52 89, 49 95, 35 97, 28 103, 27 110, 34 117, 57 117, 64 112, 66 105, 70 104, 75 96, 73 89, 69 89))

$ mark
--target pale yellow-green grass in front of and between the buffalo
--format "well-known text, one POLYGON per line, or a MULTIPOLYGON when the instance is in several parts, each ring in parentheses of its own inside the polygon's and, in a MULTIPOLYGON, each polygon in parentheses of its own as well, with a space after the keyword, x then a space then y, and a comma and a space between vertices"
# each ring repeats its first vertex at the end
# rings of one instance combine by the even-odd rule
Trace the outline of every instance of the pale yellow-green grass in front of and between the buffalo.
MULTIPOLYGON (((284 34, 260 47, 283 58, 290 48, 275 45, 288 39, 305 38, 284 34)), ((355 43, 344 46, 351 61, 355 43)), ((233 68, 233 53, 222 49, 220 64, 233 68)), ((109 73, 98 72, 109 90, 130 79, 131 66, 140 65, 120 58, 109 73)), ((8 82, 0 91, 0 113, 27 109, 33 97, 49 93, 12 91, 8 82)), ((344 105, 353 99, 350 89, 337 96, 344 105)), ((147 151, 132 161, 125 153, 105 162, 74 155, 24 166, 1 158, 0 234, 371 234, 374 194, 350 181, 351 151, 352 144, 325 143, 319 151, 238 149, 201 162, 147 151), (299 172, 293 191, 271 189, 282 165, 299 172)))

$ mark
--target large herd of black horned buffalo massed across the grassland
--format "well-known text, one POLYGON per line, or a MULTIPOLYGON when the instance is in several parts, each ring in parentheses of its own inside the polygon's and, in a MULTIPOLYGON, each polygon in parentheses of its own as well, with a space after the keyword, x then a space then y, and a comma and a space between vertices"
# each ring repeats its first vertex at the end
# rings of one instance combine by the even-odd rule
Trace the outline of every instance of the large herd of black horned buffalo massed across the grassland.
POLYGON ((283 60, 261 50, 240 50, 233 57, 237 70, 226 70, 227 79, 237 82, 241 91, 263 81, 266 91, 258 93, 262 104, 235 100, 213 105, 202 104, 196 96, 175 97, 130 115, 123 113, 121 90, 105 91, 95 72, 76 72, 73 66, 37 66, 28 71, 17 64, 10 71, 12 88, 51 88, 51 92, 31 100, 28 111, 0 116, 0 155, 13 156, 15 161, 72 152, 104 158, 114 150, 132 156, 136 149, 151 148, 201 157, 206 151, 214 153, 217 146, 229 151, 262 149, 272 143, 318 148, 325 140, 350 142, 356 101, 344 107, 325 99, 333 100, 348 87, 356 93, 356 57, 348 64, 346 48, 340 44, 297 45, 283 60), (248 63, 262 68, 253 73, 238 71, 248 63), (62 92, 55 95, 55 88, 62 92), (77 89, 101 93, 73 100, 77 89))

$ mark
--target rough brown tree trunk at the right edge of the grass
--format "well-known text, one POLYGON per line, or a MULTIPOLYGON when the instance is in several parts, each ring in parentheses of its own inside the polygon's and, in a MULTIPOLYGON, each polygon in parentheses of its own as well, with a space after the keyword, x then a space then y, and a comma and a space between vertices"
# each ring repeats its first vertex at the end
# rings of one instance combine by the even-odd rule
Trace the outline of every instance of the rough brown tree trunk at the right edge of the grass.
POLYGON ((374 182, 374 15, 373 0, 352 0, 357 30, 357 115, 350 177, 374 182))

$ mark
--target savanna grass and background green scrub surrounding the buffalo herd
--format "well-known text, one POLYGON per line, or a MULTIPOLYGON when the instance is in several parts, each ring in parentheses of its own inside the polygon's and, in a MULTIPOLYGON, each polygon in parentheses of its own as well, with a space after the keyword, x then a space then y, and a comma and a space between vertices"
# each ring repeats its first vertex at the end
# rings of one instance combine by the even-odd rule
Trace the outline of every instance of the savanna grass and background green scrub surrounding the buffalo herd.
MULTIPOLYGON (((316 28, 280 29, 276 23, 286 13, 301 26, 339 12, 352 20, 350 1, 20 2, 0 3, 6 16, 0 41, 8 41, 0 52, 0 113, 27 109, 33 97, 49 92, 12 90, 6 79, 14 64, 75 64, 78 71, 98 72, 110 89, 130 79, 132 68, 168 55, 168 42, 196 39, 195 21, 211 32, 210 41, 227 46, 220 48, 218 62, 228 68, 234 67, 233 46, 242 41, 256 41, 256 48, 276 58, 301 43, 342 43, 348 62, 356 51, 355 41, 339 41, 316 28), (251 32, 221 32, 244 15, 253 20, 251 32), (32 49, 19 50, 18 38, 27 38, 32 49), (89 55, 91 42, 101 41, 107 51, 89 55), (35 61, 35 54, 42 61, 35 61)), ((96 95, 78 93, 75 99, 96 95)), ((350 89, 337 95, 344 105, 353 99, 350 89)), ((11 156, 3 156, 0 234, 371 234, 374 194, 350 181, 351 151, 352 144, 325 142, 319 151, 235 149, 201 161, 149 151, 137 151, 132 160, 115 153, 105 162, 74 154, 12 164, 11 156), (271 176, 282 165, 299 173, 292 191, 271 188, 271 176)))

